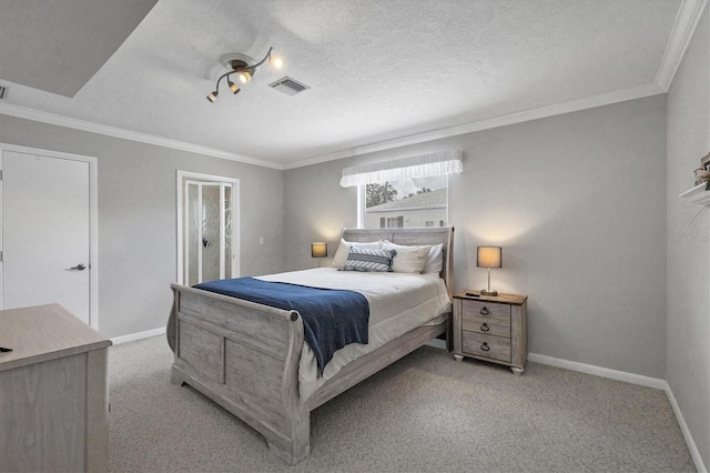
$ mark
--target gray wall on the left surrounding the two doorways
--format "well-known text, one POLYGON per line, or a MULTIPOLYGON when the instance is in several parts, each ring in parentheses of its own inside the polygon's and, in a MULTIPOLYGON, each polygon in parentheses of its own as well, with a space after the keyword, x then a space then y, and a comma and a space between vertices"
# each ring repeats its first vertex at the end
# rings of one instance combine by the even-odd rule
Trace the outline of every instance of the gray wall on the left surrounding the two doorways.
POLYGON ((98 158, 99 330, 105 336, 165 326, 176 278, 179 169, 239 178, 242 275, 283 268, 282 171, 2 114, 0 142, 98 158))

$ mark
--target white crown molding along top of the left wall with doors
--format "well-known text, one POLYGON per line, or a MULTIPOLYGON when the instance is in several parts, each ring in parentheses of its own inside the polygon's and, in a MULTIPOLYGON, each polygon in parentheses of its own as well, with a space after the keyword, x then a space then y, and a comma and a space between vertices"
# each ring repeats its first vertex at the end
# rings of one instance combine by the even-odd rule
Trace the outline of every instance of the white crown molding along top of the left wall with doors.
POLYGON ((232 153, 229 151, 222 151, 214 148, 202 147, 199 144, 186 143, 183 141, 171 140, 169 138, 154 137, 152 134, 124 130, 118 127, 109 127, 105 124, 93 123, 85 120, 62 117, 55 113, 42 112, 39 110, 13 105, 10 103, 0 103, 0 114, 38 121, 42 123, 55 124, 58 127, 71 128, 74 130, 88 131, 91 133, 104 134, 106 137, 120 138, 129 141, 154 144, 156 147, 170 148, 173 150, 186 151, 195 154, 204 154, 213 158, 237 161, 245 164, 258 165, 262 168, 277 169, 280 171, 284 169, 283 164, 273 161, 232 153))

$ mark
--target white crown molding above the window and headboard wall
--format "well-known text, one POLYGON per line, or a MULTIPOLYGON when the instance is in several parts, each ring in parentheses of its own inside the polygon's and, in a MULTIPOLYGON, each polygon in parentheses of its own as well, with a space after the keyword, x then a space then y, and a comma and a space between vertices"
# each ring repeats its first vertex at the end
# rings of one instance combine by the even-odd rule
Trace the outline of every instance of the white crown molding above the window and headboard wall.
POLYGON ((570 100, 567 102, 555 103, 552 105, 539 107, 536 109, 525 110, 520 112, 509 113, 507 115, 495 117, 491 119, 479 120, 470 123, 464 123, 455 127, 443 128, 439 130, 427 131, 424 133, 412 134, 408 137, 397 138, 394 140, 382 141, 378 143, 366 144, 363 147, 351 148, 348 150, 337 151, 329 154, 308 158, 292 163, 285 163, 284 170, 303 168, 306 165, 320 164, 327 161, 335 161, 345 158, 352 158, 377 151, 390 150, 394 148, 407 147, 410 144, 419 144, 427 141, 440 140, 443 138, 456 137, 459 134, 473 133, 476 131, 490 130, 494 128, 506 127, 509 124, 523 123, 526 121, 538 120, 548 117, 555 117, 564 113, 577 112, 596 107, 609 105, 628 100, 642 99, 645 97, 658 95, 665 91, 655 82, 639 87, 633 87, 612 92, 600 93, 597 95, 585 97, 584 99, 570 100))

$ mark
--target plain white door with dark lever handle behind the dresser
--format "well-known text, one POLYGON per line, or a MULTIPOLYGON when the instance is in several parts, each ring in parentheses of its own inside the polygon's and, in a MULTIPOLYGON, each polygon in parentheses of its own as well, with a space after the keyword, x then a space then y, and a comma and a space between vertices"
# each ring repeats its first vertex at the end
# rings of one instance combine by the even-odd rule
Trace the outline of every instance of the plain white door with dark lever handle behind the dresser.
POLYGON ((2 308, 59 303, 90 323, 88 162, 2 152, 2 308))

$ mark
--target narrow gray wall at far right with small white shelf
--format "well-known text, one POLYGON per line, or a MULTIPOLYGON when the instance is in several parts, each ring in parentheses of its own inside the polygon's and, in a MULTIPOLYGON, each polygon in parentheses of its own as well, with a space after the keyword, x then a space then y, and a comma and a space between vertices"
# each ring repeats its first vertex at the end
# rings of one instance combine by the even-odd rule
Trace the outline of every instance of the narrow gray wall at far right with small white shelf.
POLYGON ((710 219, 678 194, 710 151, 710 20, 703 13, 668 92, 667 381, 710 466, 710 219))

